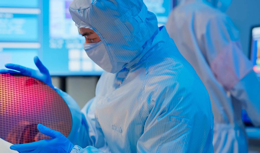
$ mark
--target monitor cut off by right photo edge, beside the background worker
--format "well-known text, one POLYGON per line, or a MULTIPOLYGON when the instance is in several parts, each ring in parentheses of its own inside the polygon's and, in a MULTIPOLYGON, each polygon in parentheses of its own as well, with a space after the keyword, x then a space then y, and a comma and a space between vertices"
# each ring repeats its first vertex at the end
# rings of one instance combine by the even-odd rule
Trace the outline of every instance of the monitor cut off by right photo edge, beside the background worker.
POLYGON ((251 42, 249 58, 253 64, 253 69, 260 77, 260 26, 251 29, 251 42))

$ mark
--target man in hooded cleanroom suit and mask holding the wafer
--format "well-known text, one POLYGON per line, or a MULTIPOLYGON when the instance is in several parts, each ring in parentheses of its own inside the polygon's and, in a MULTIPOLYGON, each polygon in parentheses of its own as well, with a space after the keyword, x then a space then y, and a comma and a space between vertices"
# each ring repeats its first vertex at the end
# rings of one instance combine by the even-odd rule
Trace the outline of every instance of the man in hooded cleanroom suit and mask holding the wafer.
MULTIPOLYGON (((142 0, 74 0, 70 14, 86 38, 86 54, 105 72, 96 96, 68 136, 38 125, 52 139, 12 145, 34 152, 213 152, 213 114, 207 89, 165 27, 142 0)), ((49 71, 6 64, 53 87, 49 71)), ((12 70, 10 70, 12 69, 12 70)), ((73 99, 54 88, 68 103, 73 99)), ((57 108, 58 109, 58 108, 57 108)), ((72 112, 73 118, 80 110, 72 112)))

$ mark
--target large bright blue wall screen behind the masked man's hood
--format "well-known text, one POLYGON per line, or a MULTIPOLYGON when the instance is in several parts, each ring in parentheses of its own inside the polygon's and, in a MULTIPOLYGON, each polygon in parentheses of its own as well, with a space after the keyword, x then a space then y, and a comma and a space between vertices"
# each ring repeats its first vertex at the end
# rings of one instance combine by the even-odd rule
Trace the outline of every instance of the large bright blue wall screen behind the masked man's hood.
MULTIPOLYGON (((52 76, 101 75, 103 70, 83 50, 68 11, 72 0, 0 1, 0 69, 5 63, 37 69, 34 56, 52 76)), ((172 0, 144 0, 148 10, 164 25, 172 0)))

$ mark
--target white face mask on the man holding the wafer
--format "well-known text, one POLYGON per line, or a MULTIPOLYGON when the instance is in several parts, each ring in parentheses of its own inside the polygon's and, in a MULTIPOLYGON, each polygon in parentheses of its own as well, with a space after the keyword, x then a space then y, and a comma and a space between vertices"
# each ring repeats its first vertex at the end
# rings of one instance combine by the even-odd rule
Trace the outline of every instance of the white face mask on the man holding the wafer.
POLYGON ((115 73, 112 62, 107 54, 105 45, 100 41, 98 43, 84 44, 84 50, 89 58, 98 64, 103 70, 115 73))

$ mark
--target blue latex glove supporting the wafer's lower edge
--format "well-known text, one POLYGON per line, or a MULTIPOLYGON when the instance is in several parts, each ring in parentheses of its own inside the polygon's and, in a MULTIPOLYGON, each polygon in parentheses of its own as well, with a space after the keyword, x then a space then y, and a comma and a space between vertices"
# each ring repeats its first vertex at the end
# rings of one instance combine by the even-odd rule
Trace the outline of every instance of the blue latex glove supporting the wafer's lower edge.
POLYGON ((11 145, 10 149, 19 153, 69 153, 74 145, 60 132, 38 124, 38 130, 52 139, 45 139, 31 143, 11 145))

